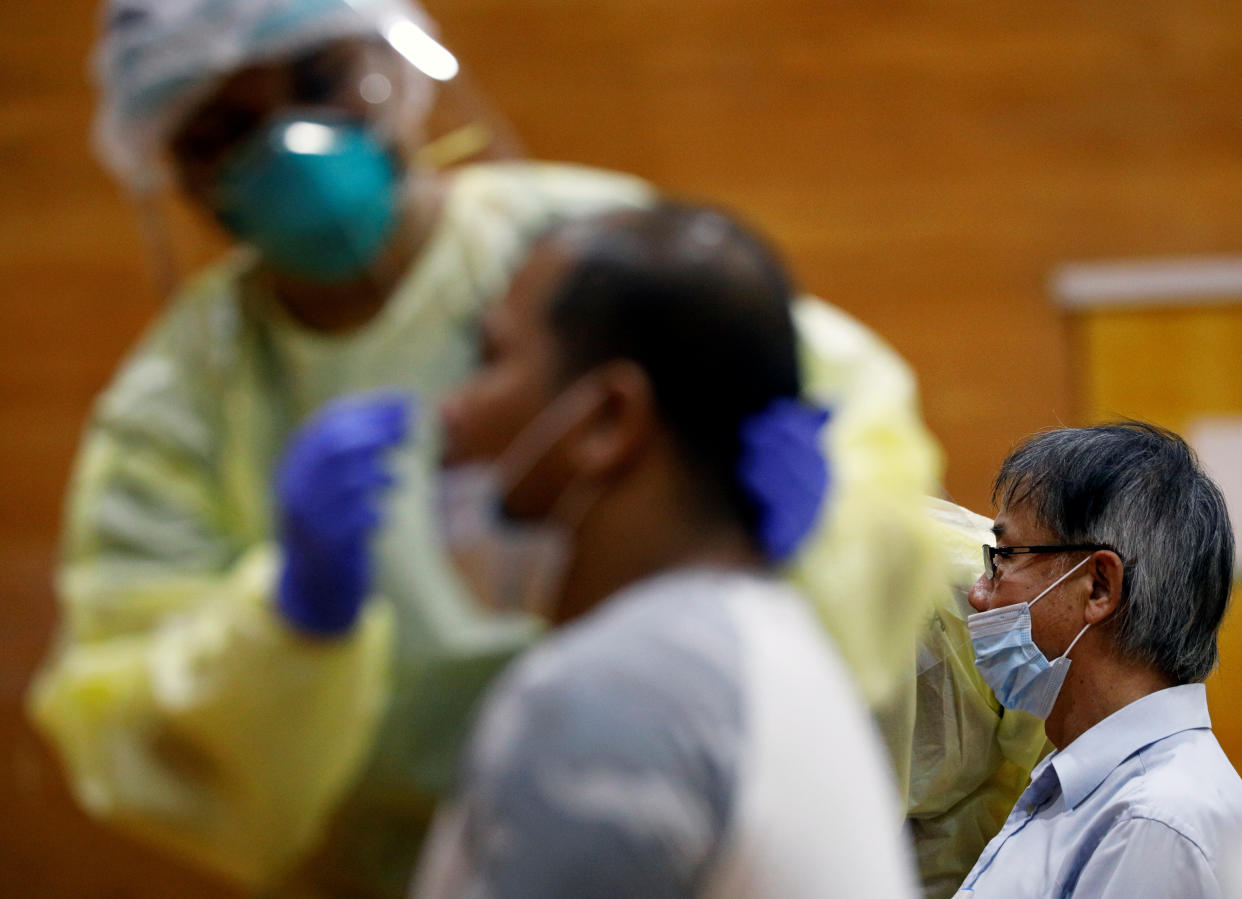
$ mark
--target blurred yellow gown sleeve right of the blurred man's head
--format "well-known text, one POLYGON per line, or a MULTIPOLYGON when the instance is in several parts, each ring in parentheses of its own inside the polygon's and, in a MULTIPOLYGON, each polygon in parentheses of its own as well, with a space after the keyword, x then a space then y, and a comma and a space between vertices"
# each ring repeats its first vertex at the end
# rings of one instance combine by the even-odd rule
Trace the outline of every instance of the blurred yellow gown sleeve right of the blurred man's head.
POLYGON ((832 412, 830 499, 791 576, 815 603, 872 707, 909 679, 917 632, 943 585, 923 497, 940 450, 923 425, 914 377, 874 334, 814 298, 795 304, 804 392, 832 412))

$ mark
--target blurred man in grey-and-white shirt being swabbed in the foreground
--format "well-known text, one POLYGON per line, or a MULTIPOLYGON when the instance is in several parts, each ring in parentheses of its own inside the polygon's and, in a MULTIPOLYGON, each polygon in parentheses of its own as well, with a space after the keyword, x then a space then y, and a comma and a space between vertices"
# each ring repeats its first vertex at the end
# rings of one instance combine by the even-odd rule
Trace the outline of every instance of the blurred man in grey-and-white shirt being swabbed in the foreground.
POLYGON ((753 235, 663 205, 561 228, 484 319, 450 546, 538 570, 565 627, 491 692, 416 894, 913 895, 883 745, 771 570, 828 482, 790 302, 753 235))

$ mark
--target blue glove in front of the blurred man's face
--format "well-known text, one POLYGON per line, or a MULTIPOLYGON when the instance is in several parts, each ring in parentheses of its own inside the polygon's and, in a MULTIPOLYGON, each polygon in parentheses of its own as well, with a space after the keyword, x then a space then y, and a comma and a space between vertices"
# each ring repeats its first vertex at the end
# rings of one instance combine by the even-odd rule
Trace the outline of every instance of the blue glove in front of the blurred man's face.
POLYGON ((368 538, 392 484, 385 451, 405 440, 411 400, 368 394, 324 406, 292 438, 276 472, 284 571, 276 605, 315 635, 353 627, 371 585, 368 538))

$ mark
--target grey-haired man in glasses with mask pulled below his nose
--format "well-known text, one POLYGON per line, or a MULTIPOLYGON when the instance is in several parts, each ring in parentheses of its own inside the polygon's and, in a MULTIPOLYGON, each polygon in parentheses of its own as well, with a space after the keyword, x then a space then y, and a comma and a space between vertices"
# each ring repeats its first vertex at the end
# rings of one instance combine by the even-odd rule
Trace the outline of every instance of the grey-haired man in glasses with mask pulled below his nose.
POLYGON ((1220 489, 1180 437, 1122 422, 1032 437, 992 499, 976 664, 1056 751, 958 895, 1220 897, 1242 827, 1201 683, 1233 571, 1220 489))

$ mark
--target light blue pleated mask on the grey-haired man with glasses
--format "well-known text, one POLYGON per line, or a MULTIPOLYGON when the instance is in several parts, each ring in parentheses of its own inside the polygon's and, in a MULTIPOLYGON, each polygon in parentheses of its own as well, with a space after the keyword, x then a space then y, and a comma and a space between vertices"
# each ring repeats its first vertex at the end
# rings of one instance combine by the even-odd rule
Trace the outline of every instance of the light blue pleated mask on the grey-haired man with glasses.
POLYGON ((1052 712, 1069 673, 1069 651, 1090 625, 1078 632, 1059 658, 1048 662, 1031 636, 1031 606, 1089 560, 1090 556, 1083 559, 1030 602, 976 612, 966 618, 975 647, 975 666, 1006 709, 1030 712, 1037 718, 1047 718, 1052 712))

